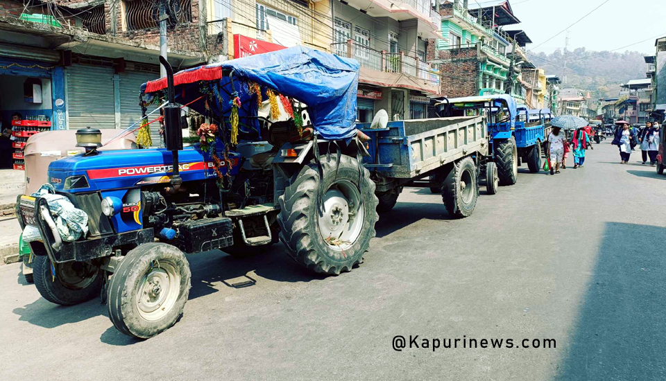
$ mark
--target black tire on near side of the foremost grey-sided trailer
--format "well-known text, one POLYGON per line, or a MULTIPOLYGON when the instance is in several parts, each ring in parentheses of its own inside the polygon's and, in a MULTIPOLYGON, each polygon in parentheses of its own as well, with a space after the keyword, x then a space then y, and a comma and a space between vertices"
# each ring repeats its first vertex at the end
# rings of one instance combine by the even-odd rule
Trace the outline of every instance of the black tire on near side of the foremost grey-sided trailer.
POLYGON ((455 218, 469 217, 477 206, 479 179, 477 178, 477 168, 470 157, 465 157, 454 164, 452 170, 444 180, 442 186, 442 200, 446 211, 455 218), (461 192, 461 180, 467 177, 472 184, 466 184, 472 187, 472 197, 470 200, 464 200, 464 194, 461 192))

